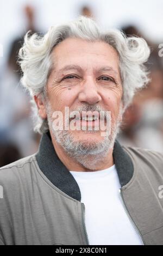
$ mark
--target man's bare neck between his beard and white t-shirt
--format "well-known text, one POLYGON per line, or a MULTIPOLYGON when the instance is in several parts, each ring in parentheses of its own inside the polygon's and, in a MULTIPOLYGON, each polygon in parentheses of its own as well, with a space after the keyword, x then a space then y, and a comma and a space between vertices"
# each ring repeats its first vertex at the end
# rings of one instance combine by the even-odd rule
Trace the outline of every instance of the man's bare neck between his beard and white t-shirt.
POLYGON ((74 170, 76 172, 86 172, 86 171, 96 171, 96 170, 103 170, 106 168, 111 167, 114 164, 114 159, 112 156, 112 151, 113 149, 111 148, 108 151, 108 154, 103 157, 102 155, 86 155, 86 156, 81 156, 82 163, 84 162, 84 165, 77 161, 77 159, 73 159, 72 156, 69 156, 65 150, 59 145, 53 136, 51 134, 52 138, 52 143, 55 149, 55 152, 57 153, 60 161, 64 163, 66 168, 68 170, 74 170))

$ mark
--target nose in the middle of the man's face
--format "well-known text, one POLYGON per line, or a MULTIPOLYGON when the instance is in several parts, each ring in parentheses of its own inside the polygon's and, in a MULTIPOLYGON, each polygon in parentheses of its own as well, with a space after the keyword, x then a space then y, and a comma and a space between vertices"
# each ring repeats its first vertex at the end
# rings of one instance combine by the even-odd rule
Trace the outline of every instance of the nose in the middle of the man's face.
POLYGON ((101 101, 101 99, 102 98, 101 95, 99 95, 96 82, 93 81, 92 77, 87 78, 87 80, 81 86, 78 100, 80 102, 86 102, 93 105, 101 101))

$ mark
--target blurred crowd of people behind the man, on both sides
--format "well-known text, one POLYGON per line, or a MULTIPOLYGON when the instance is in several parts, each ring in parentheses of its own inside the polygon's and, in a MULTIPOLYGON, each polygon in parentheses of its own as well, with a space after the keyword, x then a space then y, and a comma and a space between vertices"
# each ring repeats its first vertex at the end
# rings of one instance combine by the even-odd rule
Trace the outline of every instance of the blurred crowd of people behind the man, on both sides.
MULTIPOLYGON (((35 10, 27 5, 23 11, 28 20, 26 31, 37 32, 35 10)), ((93 16, 87 6, 81 8, 80 14, 93 16)), ((135 26, 121 29, 127 36, 145 38, 135 26)), ((0 167, 34 154, 39 147, 40 135, 33 132, 30 96, 21 87, 21 70, 17 64, 17 53, 23 44, 24 34, 11 42, 7 65, 0 71, 0 167)), ((147 38, 145 40, 151 47, 147 62, 151 82, 137 92, 124 113, 118 140, 121 144, 163 153, 163 57, 159 57, 158 45, 147 38)))

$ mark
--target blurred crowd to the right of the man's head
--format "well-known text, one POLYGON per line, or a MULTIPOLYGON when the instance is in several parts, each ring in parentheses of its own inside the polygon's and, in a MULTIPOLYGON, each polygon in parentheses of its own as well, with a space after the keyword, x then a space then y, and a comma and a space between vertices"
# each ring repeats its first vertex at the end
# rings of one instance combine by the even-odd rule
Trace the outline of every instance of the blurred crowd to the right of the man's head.
POLYGON ((121 144, 141 147, 163 153, 163 58, 159 57, 159 47, 148 41, 136 27, 122 28, 127 36, 144 38, 151 48, 151 56, 146 64, 150 82, 137 92, 133 103, 123 116, 121 144))

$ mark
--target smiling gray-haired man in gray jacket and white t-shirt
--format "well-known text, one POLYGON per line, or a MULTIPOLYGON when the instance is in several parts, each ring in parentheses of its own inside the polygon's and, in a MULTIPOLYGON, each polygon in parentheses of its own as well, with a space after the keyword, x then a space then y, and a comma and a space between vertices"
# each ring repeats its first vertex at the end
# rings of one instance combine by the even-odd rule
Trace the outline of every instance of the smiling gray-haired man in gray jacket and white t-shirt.
POLYGON ((115 140, 148 56, 145 40, 86 17, 26 35, 22 84, 42 138, 0 170, 2 245, 163 243, 162 155, 115 140))

